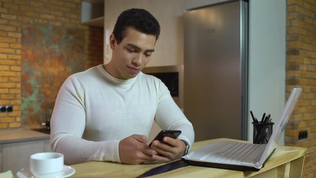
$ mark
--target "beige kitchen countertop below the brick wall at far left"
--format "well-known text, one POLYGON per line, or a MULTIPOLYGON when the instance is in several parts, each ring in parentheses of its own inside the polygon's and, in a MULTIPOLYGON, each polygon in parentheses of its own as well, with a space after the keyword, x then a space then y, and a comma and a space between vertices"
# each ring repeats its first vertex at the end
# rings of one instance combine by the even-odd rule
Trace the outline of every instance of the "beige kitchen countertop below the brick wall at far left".
POLYGON ((44 134, 25 128, 0 130, 0 144, 40 139, 49 139, 49 134, 44 134))

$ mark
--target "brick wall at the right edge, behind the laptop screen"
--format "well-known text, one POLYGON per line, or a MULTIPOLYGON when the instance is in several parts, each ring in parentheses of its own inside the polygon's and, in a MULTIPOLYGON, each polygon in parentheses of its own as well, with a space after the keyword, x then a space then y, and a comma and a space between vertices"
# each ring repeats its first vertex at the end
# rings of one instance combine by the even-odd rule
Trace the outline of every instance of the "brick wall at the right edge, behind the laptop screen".
POLYGON ((307 147, 304 178, 316 177, 316 0, 287 0, 286 97, 302 87, 285 131, 285 144, 307 147), (299 132, 307 131, 306 139, 299 132))

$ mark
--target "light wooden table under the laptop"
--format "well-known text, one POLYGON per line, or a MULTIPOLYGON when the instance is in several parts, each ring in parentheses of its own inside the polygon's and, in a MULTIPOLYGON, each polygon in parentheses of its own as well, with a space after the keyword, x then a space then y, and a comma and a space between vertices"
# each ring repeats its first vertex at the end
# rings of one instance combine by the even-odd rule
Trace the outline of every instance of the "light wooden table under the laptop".
MULTIPOLYGON (((210 142, 229 140, 246 142, 228 138, 218 138, 195 142, 192 151, 210 142)), ((278 146, 265 167, 259 172, 232 171, 217 168, 187 166, 167 173, 153 176, 153 178, 300 178, 302 175, 307 148, 278 146)), ((112 162, 91 161, 72 165, 76 169, 72 178, 135 178, 146 171, 162 164, 124 165, 112 162)))

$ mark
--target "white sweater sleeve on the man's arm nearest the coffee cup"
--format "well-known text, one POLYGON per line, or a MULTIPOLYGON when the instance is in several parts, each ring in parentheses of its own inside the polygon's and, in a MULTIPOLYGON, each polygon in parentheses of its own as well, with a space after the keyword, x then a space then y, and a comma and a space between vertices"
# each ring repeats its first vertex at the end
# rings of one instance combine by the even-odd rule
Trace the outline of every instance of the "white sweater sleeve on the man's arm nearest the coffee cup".
POLYGON ((75 77, 68 78, 61 87, 51 118, 52 150, 65 155, 65 164, 87 161, 120 162, 118 142, 82 139, 85 130, 84 92, 75 77))

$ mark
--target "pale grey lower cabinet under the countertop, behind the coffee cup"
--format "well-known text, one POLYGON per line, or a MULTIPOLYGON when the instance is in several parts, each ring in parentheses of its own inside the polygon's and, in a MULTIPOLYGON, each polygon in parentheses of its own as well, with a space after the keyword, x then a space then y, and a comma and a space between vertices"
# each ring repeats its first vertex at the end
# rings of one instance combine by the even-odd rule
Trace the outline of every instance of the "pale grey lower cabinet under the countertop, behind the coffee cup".
POLYGON ((0 172, 11 170, 15 175, 22 168, 30 167, 30 156, 50 152, 49 139, 0 144, 0 172))

